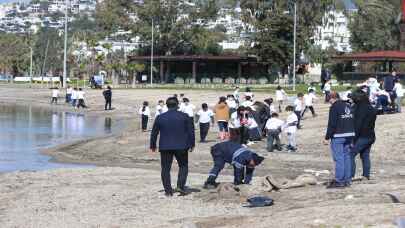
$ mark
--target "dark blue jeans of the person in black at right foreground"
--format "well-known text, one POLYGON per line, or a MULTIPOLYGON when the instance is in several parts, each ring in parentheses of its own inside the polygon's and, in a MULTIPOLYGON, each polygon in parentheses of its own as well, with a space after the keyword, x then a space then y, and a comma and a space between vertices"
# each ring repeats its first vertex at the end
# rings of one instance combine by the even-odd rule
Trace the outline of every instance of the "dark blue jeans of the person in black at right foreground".
POLYGON ((361 163, 363 164, 363 177, 370 177, 370 149, 375 139, 359 138, 352 149, 352 177, 356 175, 356 156, 360 154, 361 163))

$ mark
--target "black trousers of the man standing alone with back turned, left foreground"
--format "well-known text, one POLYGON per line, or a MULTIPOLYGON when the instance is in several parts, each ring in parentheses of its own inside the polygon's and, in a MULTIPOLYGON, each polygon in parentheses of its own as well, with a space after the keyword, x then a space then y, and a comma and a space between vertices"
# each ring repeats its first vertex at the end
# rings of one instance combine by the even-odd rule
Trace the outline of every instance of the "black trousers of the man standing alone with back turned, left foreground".
POLYGON ((166 193, 173 192, 170 170, 172 168, 173 157, 176 158, 179 166, 177 177, 177 188, 183 189, 186 186, 188 176, 188 150, 162 150, 160 151, 160 163, 162 166, 161 177, 166 193))

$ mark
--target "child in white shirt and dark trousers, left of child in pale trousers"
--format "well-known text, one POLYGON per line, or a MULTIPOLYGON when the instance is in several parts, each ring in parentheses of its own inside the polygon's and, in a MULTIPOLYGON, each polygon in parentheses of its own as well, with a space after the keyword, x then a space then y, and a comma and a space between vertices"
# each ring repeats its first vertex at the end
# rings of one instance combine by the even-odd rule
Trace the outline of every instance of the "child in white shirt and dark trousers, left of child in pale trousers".
POLYGON ((278 114, 276 112, 271 114, 271 118, 266 122, 266 131, 267 131, 267 151, 273 152, 273 149, 281 151, 281 141, 280 141, 280 133, 284 126, 284 121, 278 118, 278 114), (274 141, 276 141, 276 145, 274 146, 274 141))

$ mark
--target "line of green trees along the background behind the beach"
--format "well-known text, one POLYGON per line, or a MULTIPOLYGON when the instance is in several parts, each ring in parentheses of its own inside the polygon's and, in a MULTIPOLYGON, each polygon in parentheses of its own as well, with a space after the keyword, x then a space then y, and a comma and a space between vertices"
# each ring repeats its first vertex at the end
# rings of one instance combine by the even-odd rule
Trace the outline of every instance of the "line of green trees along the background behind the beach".
MULTIPOLYGON (((219 55, 219 42, 229 38, 226 27, 209 28, 221 8, 239 5, 247 34, 245 46, 233 51, 239 55, 257 56, 273 66, 286 68, 293 56, 294 2, 298 6, 297 56, 308 53, 313 61, 327 61, 328 51, 314 46, 315 28, 322 24, 326 12, 342 8, 337 0, 150 0, 134 4, 131 0, 105 0, 97 5, 94 15, 81 16, 69 24, 68 67, 71 75, 82 77, 106 70, 110 76, 142 72, 141 63, 128 64, 128 55, 149 55, 151 29, 154 24, 155 55, 219 55), (130 41, 138 36, 140 48, 134 53, 111 51, 108 55, 95 49, 99 41, 118 31, 129 31, 118 39, 130 41), (85 44, 91 55, 77 53, 85 44)), ((355 51, 387 50, 399 46, 399 1, 356 0, 358 13, 350 15, 351 44, 355 51)), ((349 16, 349 15, 348 15, 349 16)), ((60 75, 63 66, 63 32, 41 28, 36 34, 0 34, 0 72, 14 76, 29 72, 32 49, 35 75, 52 72, 60 75)))

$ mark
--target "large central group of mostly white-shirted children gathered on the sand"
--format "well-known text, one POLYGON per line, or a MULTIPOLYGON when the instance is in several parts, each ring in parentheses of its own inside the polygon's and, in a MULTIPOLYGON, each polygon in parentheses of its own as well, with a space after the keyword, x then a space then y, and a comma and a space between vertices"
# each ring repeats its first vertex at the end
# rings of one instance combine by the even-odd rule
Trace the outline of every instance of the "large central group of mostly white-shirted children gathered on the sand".
MULTIPOLYGON (((283 110, 283 104, 287 100, 286 92, 278 87, 276 90, 276 101, 278 112, 273 99, 266 99, 264 102, 254 101, 253 92, 247 88, 244 99, 240 99, 239 88, 236 87, 233 94, 226 97, 220 97, 213 109, 209 108, 207 103, 203 103, 201 108, 196 111, 196 106, 190 103, 190 100, 180 94, 180 104, 178 110, 187 114, 193 123, 199 125, 200 142, 207 142, 207 135, 211 125, 216 121, 220 141, 232 140, 242 145, 249 146, 255 141, 261 141, 267 137, 267 150, 269 152, 282 150, 280 135, 285 132, 288 139, 287 150, 294 152, 297 150, 296 132, 301 128, 300 122, 307 110, 310 110, 313 117, 316 117, 313 102, 318 100, 315 95, 315 88, 308 88, 307 94, 299 93, 293 105, 285 108, 287 118, 285 121, 279 118, 279 113, 283 110)), ((175 95, 175 97, 178 97, 175 95)), ((156 106, 155 118, 166 112, 168 109, 163 100, 160 100, 156 106)), ((142 119, 142 131, 147 131, 148 120, 151 117, 149 102, 143 102, 139 108, 139 114, 142 119)), ((193 125, 194 126, 194 125, 193 125)))

